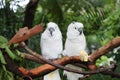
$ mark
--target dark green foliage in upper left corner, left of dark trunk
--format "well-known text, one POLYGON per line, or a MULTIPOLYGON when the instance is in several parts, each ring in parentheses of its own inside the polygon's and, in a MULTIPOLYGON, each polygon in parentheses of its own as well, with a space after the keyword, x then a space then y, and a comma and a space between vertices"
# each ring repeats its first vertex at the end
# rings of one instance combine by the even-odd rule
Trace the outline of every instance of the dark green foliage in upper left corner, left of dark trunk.
POLYGON ((21 11, 24 9, 20 9, 20 6, 18 6, 17 12, 14 12, 14 10, 10 8, 11 1, 13 0, 0 1, 0 7, 2 6, 2 8, 0 8, 0 35, 5 36, 8 39, 22 27, 24 16, 24 14, 22 14, 23 11, 21 11))

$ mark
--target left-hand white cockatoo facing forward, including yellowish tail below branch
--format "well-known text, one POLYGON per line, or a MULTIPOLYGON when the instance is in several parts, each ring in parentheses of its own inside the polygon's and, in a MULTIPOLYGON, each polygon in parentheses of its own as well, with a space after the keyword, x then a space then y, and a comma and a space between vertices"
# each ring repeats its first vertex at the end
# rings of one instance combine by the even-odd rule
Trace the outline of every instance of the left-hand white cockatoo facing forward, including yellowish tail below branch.
MULTIPOLYGON (((54 22, 47 24, 46 30, 41 35, 41 52, 46 59, 59 58, 62 51, 62 34, 58 25, 54 22)), ((59 70, 55 70, 44 76, 44 80, 61 80, 59 70)))

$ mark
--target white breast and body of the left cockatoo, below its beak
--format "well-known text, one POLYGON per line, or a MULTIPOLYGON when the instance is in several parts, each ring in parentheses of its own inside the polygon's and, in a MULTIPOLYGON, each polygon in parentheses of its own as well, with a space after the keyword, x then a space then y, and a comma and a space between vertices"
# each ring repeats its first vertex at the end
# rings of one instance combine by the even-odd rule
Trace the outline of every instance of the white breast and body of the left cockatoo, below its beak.
POLYGON ((49 36, 46 31, 41 35, 41 51, 43 57, 46 59, 58 58, 62 53, 62 49, 62 35, 60 31, 53 36, 49 36))

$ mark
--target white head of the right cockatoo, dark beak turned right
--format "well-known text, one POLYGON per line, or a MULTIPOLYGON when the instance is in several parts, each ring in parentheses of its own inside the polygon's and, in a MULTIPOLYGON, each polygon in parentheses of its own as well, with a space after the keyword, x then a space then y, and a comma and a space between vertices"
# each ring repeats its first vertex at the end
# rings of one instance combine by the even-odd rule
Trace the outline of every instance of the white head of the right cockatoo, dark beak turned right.
POLYGON ((72 22, 68 26, 67 37, 75 38, 83 35, 83 24, 80 22, 72 22))

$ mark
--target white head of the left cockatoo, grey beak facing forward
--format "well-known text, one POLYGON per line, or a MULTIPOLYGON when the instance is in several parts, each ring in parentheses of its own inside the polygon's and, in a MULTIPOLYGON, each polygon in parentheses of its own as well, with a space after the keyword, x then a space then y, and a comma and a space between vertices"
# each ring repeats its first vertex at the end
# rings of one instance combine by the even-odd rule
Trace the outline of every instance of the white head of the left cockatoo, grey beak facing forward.
POLYGON ((56 23, 54 23, 54 22, 49 22, 47 24, 47 28, 46 28, 45 32, 50 37, 61 34, 58 25, 56 23))

